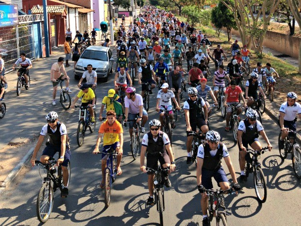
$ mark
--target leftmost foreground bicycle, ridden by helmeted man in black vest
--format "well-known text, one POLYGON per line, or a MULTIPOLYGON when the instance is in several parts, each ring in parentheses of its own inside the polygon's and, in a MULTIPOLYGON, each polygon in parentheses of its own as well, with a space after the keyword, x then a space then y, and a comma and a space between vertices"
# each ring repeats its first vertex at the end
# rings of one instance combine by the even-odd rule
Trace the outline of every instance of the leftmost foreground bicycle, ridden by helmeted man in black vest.
MULTIPOLYGON (((36 214, 37 218, 40 222, 45 223, 48 221, 50 214, 53 208, 53 192, 59 189, 61 192, 63 191, 63 171, 62 166, 59 165, 56 173, 56 160, 53 157, 50 157, 48 160, 50 163, 44 164, 39 160, 35 160, 34 164, 36 166, 41 166, 47 170, 47 175, 43 179, 43 185, 39 190, 37 200, 36 200, 36 214), (51 184, 52 181, 52 184, 51 184)), ((70 161, 67 166, 68 170, 68 182, 70 182, 71 177, 71 166, 70 161)), ((40 174, 41 175, 41 174, 40 174)), ((42 176, 41 176, 42 177, 42 176)))

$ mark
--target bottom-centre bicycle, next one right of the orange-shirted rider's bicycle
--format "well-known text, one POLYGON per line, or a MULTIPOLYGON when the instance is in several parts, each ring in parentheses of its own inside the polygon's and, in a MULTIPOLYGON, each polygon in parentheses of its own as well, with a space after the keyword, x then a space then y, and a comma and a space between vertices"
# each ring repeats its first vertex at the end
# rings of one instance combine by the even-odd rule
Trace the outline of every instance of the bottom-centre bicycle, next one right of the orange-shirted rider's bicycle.
POLYGON ((146 168, 148 172, 155 174, 153 179, 154 189, 155 189, 155 202, 157 205, 157 212, 159 212, 160 216, 160 226, 163 226, 163 211, 165 211, 165 203, 164 203, 164 184, 162 183, 162 172, 168 171, 169 167, 165 169, 161 169, 161 165, 158 166, 158 170, 154 170, 151 168, 146 168))

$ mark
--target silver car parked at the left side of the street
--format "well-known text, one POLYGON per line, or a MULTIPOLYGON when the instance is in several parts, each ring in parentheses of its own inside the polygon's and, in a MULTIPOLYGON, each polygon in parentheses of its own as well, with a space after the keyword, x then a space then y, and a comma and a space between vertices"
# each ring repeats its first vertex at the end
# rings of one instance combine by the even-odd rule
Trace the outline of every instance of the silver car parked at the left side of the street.
POLYGON ((97 73, 97 77, 104 82, 108 81, 109 73, 112 73, 114 58, 109 47, 89 46, 84 50, 81 57, 77 61, 74 71, 74 78, 80 79, 84 71, 87 70, 87 65, 91 64, 97 73))

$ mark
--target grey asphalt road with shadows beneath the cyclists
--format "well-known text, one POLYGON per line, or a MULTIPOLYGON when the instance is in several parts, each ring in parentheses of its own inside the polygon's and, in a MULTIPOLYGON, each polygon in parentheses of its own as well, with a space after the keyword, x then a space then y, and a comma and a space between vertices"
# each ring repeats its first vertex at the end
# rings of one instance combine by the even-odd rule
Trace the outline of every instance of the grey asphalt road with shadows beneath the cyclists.
MULTIPOLYGON (((54 58, 51 60, 53 61, 54 58)), ((13 91, 8 93, 11 96, 7 101, 10 108, 5 117, 9 120, 4 122, 2 133, 17 134, 19 131, 35 131, 36 133, 45 124, 45 114, 50 110, 58 111, 59 116, 67 124, 68 135, 71 139, 69 196, 62 199, 59 192, 55 192, 53 210, 46 225, 158 226, 159 214, 156 207, 146 206, 148 198, 147 175, 139 170, 139 158, 133 160, 127 128, 124 129, 124 156, 121 163, 123 173, 117 177, 113 185, 109 208, 105 208, 104 191, 99 188, 101 180, 100 155, 92 155, 97 132, 93 134, 87 132, 83 146, 77 146, 78 110, 68 110, 66 112, 60 105, 51 105, 51 85, 48 83, 49 72, 46 73, 46 71, 49 71, 52 62, 50 62, 50 59, 44 62, 43 67, 32 70, 35 80, 31 89, 24 91, 20 97, 14 97, 13 91)), ((211 70, 213 70, 213 65, 211 70)), ((68 75, 71 77, 72 96, 75 96, 78 91, 76 88, 77 81, 73 78, 71 68, 68 69, 68 75)), ((209 84, 212 85, 212 77, 209 81, 209 84)), ((107 83, 98 85, 98 100, 101 100, 111 87, 113 87, 113 75, 109 77, 107 83)), ((140 93, 141 86, 136 87, 138 93, 140 93)), ((157 91, 157 89, 155 90, 157 91)), ((184 96, 186 98, 187 94, 185 93, 184 96)), ((151 101, 149 110, 150 120, 158 118, 157 112, 154 110, 155 97, 156 92, 151 95, 153 101, 151 101)), ((183 103, 184 100, 182 100, 182 106, 183 103)), ((99 110, 100 104, 97 105, 97 115, 99 115, 99 110)), ((225 122, 220 116, 220 111, 212 114, 211 122, 212 129, 220 133, 222 141, 228 147, 238 177, 240 172, 238 149, 234 144, 232 133, 224 131, 225 122)), ((274 147, 271 152, 265 153, 260 159, 268 185, 267 202, 261 205, 257 201, 252 183, 252 174, 250 174, 248 182, 242 184, 243 191, 237 197, 235 195, 226 197, 225 204, 229 214, 227 217, 228 225, 300 225, 300 180, 296 179, 292 172, 290 155, 284 161, 278 155, 278 126, 276 123, 264 114, 263 125, 274 147)), ((97 122, 97 130, 99 126, 100 122, 97 122)), ((172 187, 165 190, 165 225, 199 226, 202 221, 201 196, 197 190, 196 167, 194 164, 186 165, 186 133, 183 111, 178 118, 177 127, 173 130, 173 140, 172 148, 177 170, 170 174, 172 187)), ((260 138, 260 141, 265 146, 262 138, 260 138)), ((41 154, 41 151, 39 154, 41 154)), ((225 167, 225 170, 228 178, 232 181, 227 167, 225 167)), ((44 176, 43 170, 40 170, 40 174, 39 167, 34 167, 25 174, 17 186, 6 190, 0 196, 1 226, 39 225, 35 213, 35 203, 42 184, 41 177, 44 176)), ((214 186, 217 188, 215 182, 214 186)), ((215 224, 215 219, 212 224, 215 224)))

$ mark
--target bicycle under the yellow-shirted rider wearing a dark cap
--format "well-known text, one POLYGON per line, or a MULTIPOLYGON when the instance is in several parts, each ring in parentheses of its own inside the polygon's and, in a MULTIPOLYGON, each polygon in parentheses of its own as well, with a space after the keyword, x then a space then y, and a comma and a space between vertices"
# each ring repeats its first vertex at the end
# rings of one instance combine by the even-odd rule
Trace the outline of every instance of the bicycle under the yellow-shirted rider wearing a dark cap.
MULTIPOLYGON (((75 108, 80 107, 75 105, 75 108)), ((96 122, 91 122, 90 119, 90 112, 87 110, 89 107, 80 107, 80 114, 79 114, 79 122, 77 126, 77 131, 76 131, 76 141, 78 146, 82 146, 84 143, 84 134, 87 130, 87 127, 89 127, 89 130, 91 133, 95 131, 96 127, 96 122)), ((93 110, 94 115, 96 115, 95 110, 93 110)))

